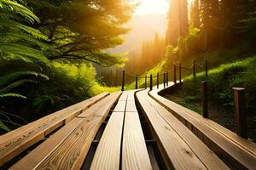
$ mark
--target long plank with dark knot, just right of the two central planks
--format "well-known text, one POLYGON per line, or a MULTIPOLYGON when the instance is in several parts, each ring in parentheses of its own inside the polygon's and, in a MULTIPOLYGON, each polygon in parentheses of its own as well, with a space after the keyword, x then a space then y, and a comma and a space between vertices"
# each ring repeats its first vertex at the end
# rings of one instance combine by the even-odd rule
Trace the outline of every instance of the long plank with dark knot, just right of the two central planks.
POLYGON ((183 139, 170 125, 152 108, 144 97, 145 92, 138 92, 137 99, 154 129, 155 139, 162 146, 162 156, 168 168, 174 169, 207 169, 183 139))

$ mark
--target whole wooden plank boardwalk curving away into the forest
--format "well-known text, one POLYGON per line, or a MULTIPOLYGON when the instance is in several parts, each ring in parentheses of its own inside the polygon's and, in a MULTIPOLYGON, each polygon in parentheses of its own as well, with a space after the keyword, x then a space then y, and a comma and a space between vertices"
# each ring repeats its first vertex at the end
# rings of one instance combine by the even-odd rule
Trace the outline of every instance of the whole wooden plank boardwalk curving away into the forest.
POLYGON ((99 94, 4 134, 0 169, 256 169, 255 143, 161 89, 99 94))

